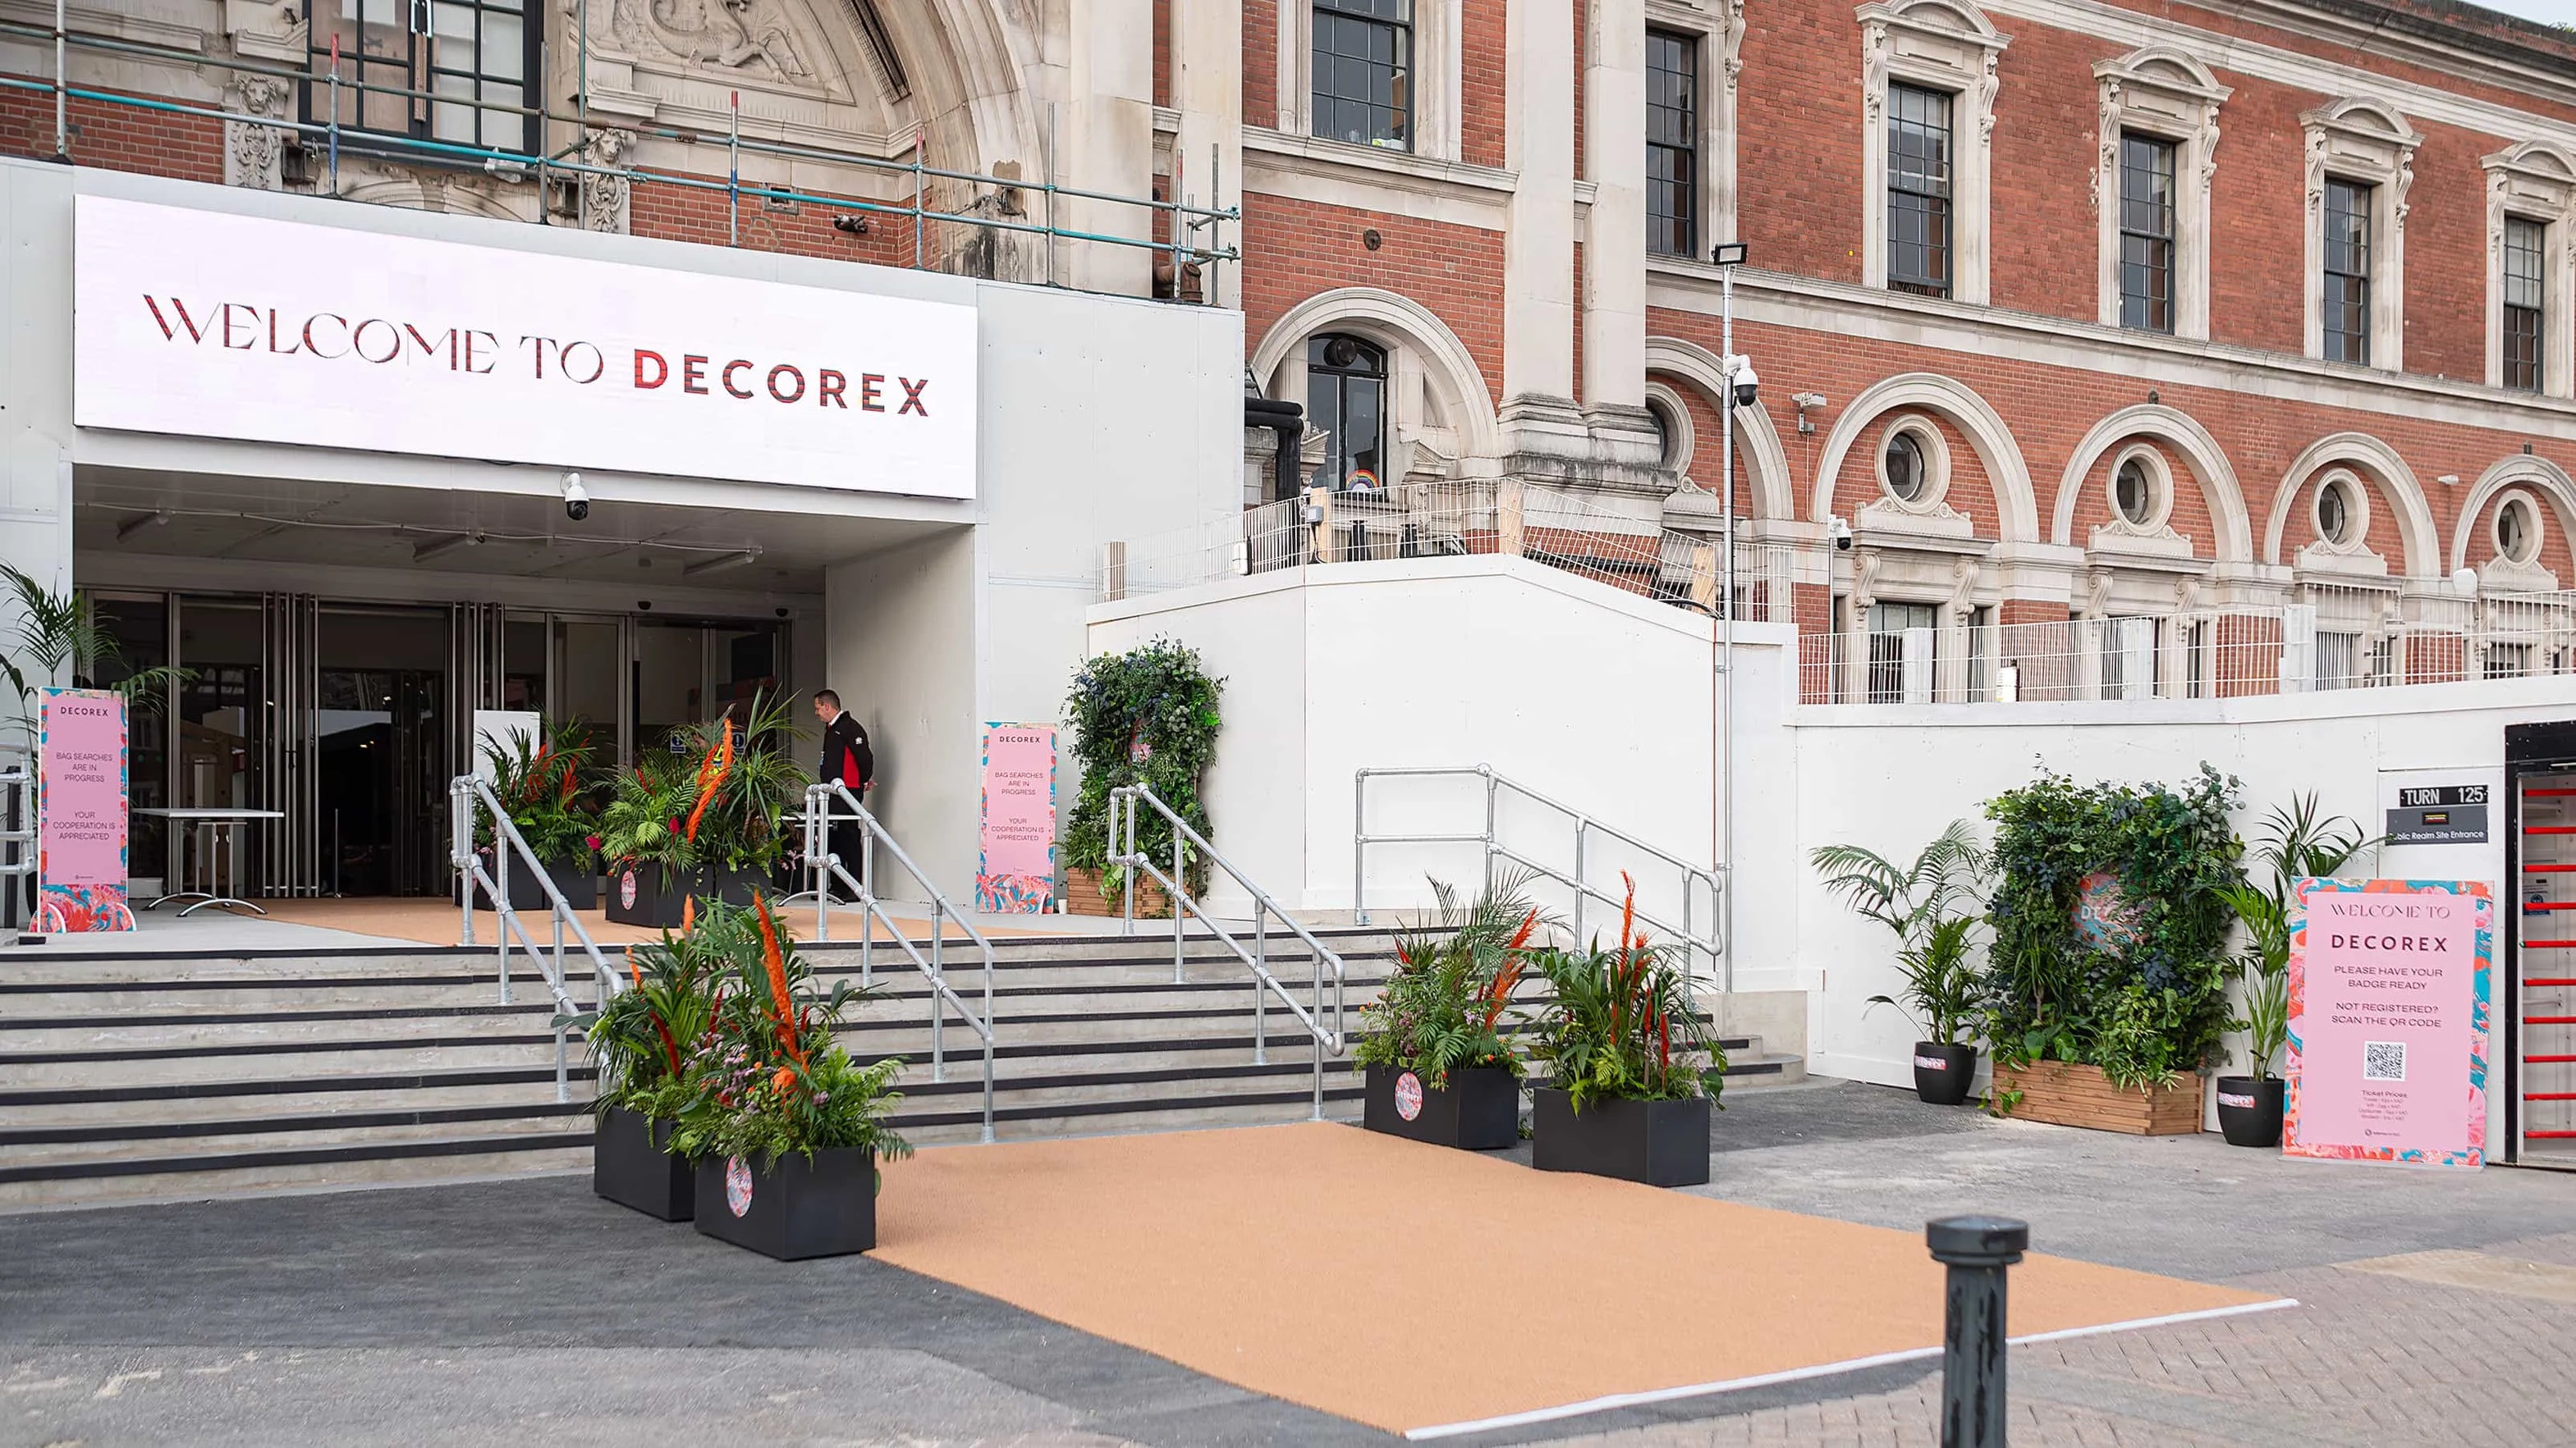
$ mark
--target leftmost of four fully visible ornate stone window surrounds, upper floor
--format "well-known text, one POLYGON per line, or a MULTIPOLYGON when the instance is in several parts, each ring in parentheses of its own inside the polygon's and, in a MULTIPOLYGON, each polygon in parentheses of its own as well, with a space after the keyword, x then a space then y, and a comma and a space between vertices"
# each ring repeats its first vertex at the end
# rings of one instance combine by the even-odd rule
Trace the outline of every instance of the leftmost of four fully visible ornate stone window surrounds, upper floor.
POLYGON ((1860 283, 1888 286, 1891 85, 1950 95, 1950 301, 1994 294, 1994 95, 2009 36, 1973 0, 1870 0, 1860 18, 1860 283))

